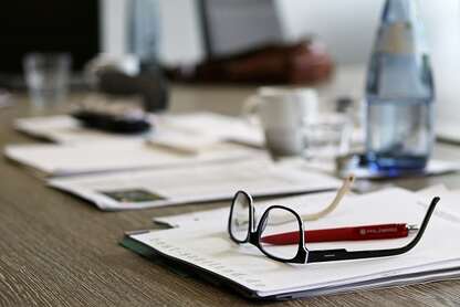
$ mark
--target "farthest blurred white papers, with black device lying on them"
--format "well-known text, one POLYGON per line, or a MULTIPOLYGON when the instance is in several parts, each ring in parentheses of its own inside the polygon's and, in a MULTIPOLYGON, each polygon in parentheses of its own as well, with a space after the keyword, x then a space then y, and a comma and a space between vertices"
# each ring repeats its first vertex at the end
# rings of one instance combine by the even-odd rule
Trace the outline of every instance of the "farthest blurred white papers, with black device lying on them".
MULTIPOLYGON (((80 144, 90 141, 113 141, 151 138, 171 146, 190 144, 178 142, 177 137, 168 140, 170 134, 186 134, 201 137, 209 141, 236 141, 262 147, 264 138, 260 127, 231 116, 215 113, 189 113, 182 115, 164 114, 151 116, 154 129, 139 136, 108 134, 88 129, 69 115, 20 118, 14 123, 15 129, 32 137, 48 139, 59 144, 80 144), (169 144, 170 141, 170 144, 169 144)), ((198 148, 198 145, 195 147, 198 148)))

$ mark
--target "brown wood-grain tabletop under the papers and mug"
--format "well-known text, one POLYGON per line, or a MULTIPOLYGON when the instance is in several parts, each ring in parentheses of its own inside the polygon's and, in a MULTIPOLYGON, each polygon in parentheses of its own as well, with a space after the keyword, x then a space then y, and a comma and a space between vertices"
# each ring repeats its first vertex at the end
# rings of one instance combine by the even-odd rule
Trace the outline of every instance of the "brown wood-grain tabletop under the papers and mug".
MULTIPOLYGON (((348 70, 321 88, 358 95, 359 73, 348 70)), ((237 114, 253 88, 188 87, 172 91, 171 109, 211 109, 237 114)), ((80 96, 73 96, 77 99, 80 96)), ((325 102, 327 99, 324 99, 325 102)), ((27 114, 28 100, 0 109, 0 145, 33 140, 12 129, 27 114)), ((460 158, 460 148, 438 145, 436 156, 460 158)), ((397 180, 418 189, 445 182, 460 187, 460 174, 397 180)), ((101 212, 71 195, 52 190, 30 172, 0 160, 0 306, 241 306, 247 300, 206 282, 179 276, 121 247, 124 231, 150 229, 153 216, 206 210, 228 203, 180 205, 130 212, 101 212)), ((305 276, 307 278, 307 276, 305 276)), ((259 305, 259 304, 258 304, 259 305)), ((270 306, 459 306, 460 282, 316 297, 270 306)))

